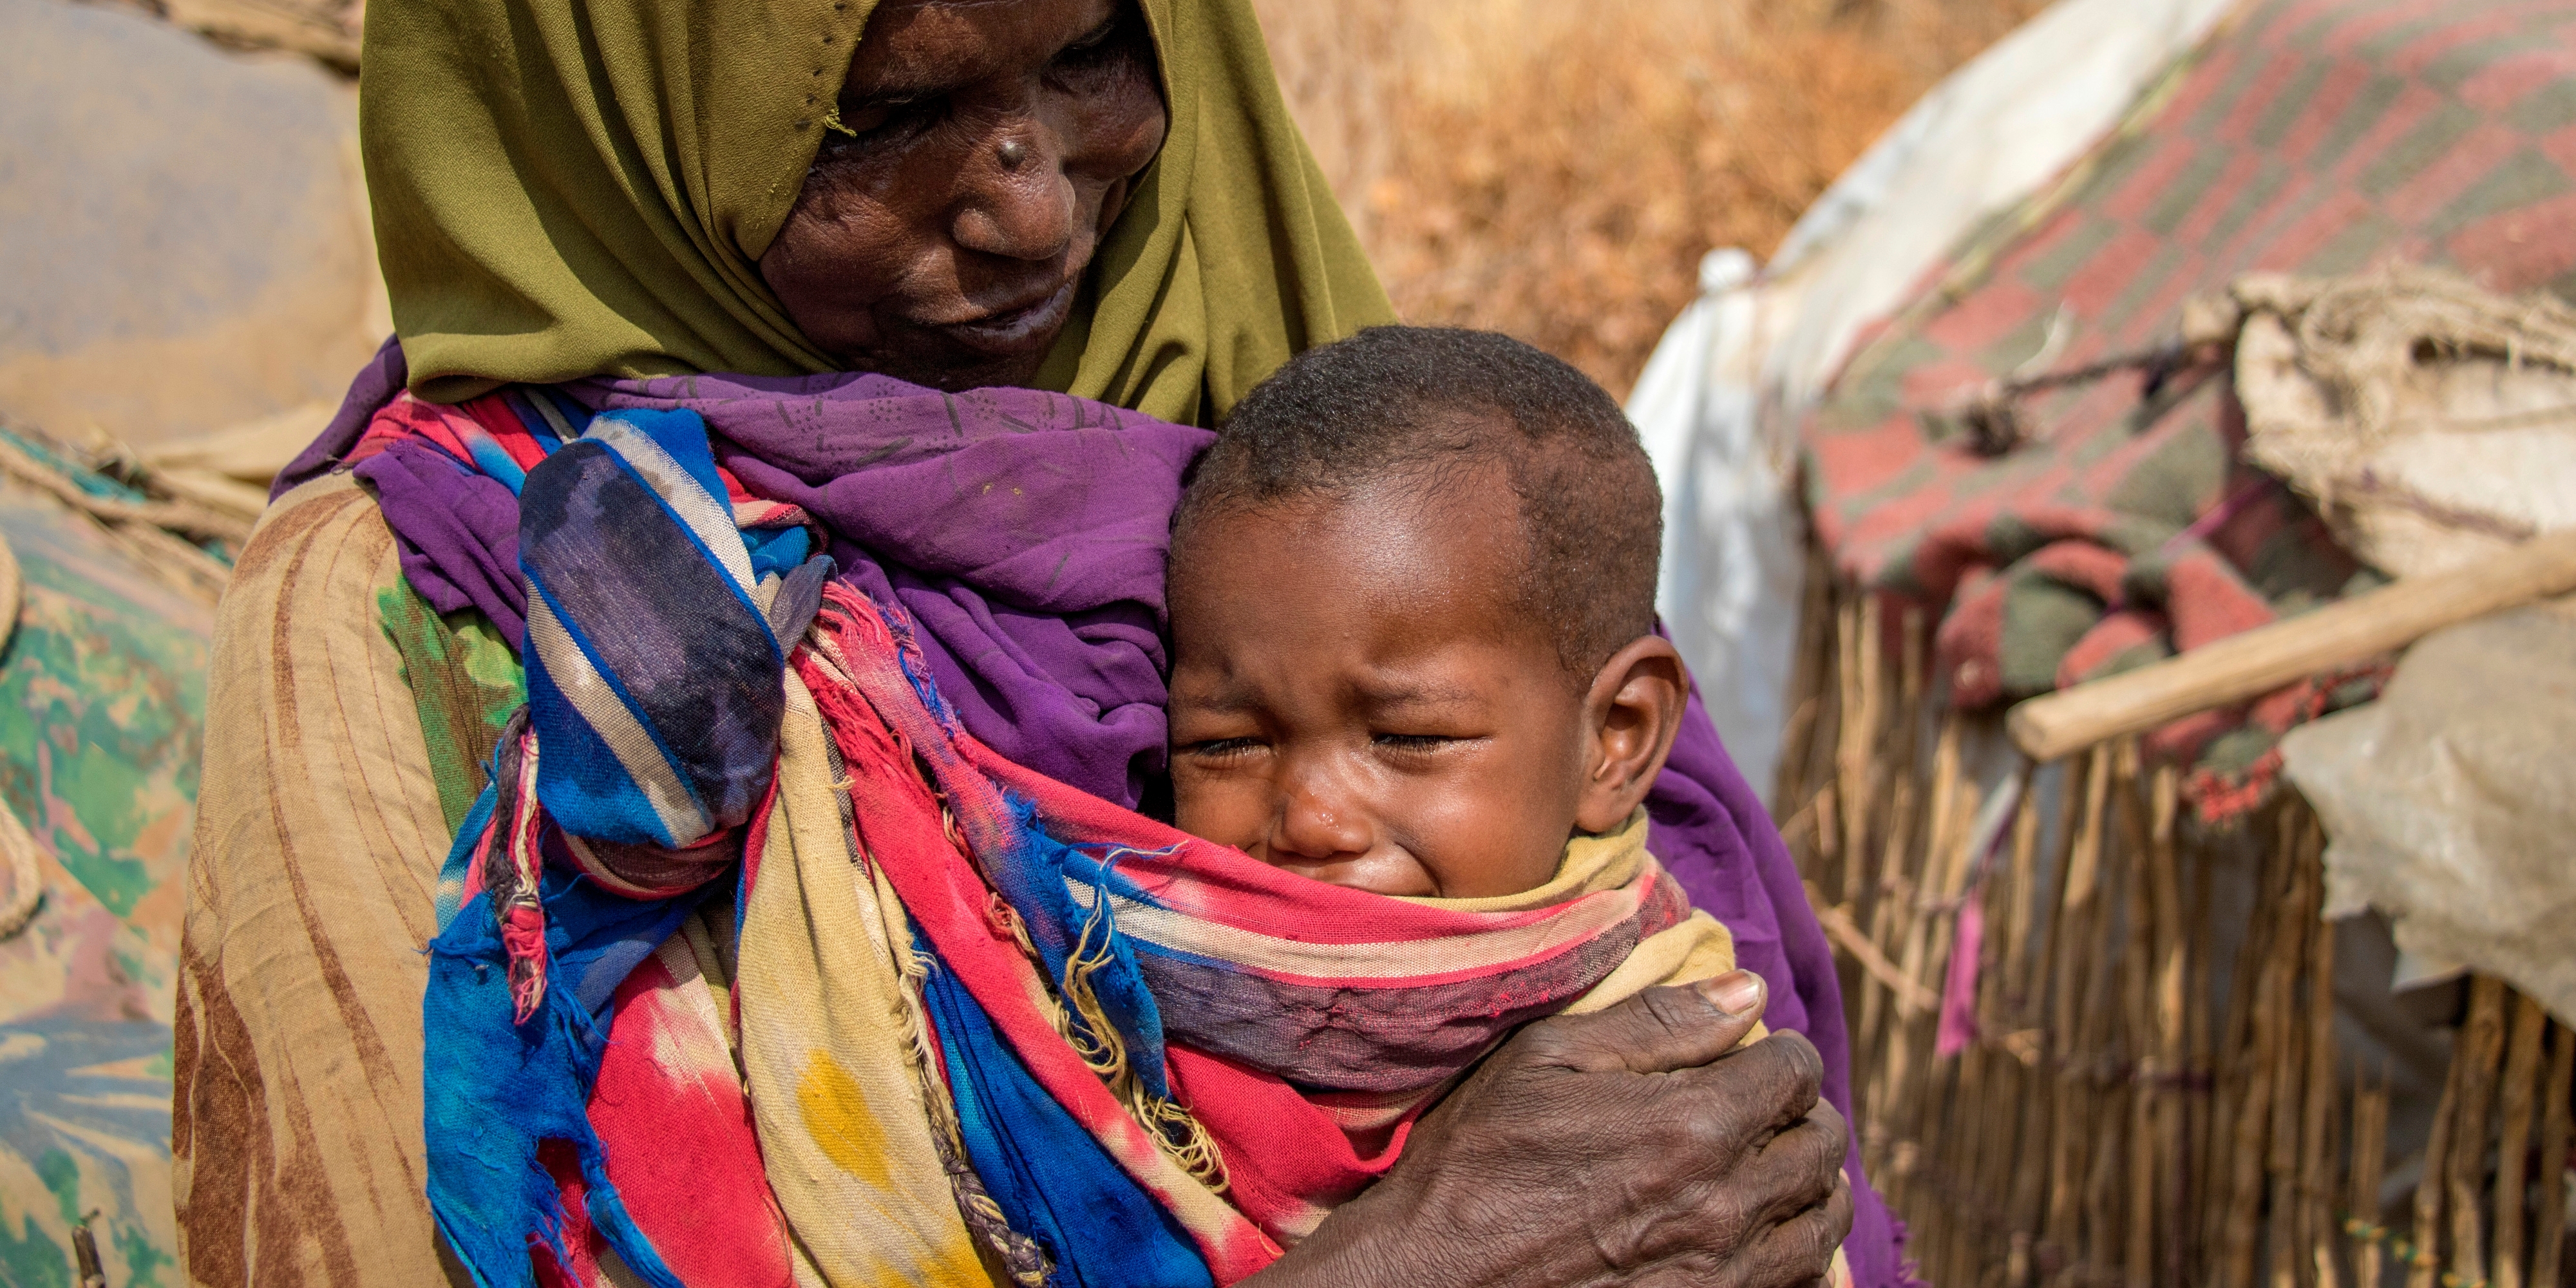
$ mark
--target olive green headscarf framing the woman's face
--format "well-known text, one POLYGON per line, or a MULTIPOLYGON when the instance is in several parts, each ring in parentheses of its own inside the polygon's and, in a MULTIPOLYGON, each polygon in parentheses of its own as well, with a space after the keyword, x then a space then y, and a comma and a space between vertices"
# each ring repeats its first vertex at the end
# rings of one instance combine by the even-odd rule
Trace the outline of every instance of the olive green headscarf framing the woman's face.
MULTIPOLYGON (((1213 422, 1394 309, 1247 0, 1141 0, 1172 129, 1038 384, 1213 422)), ((376 0, 358 129, 412 389, 832 371, 760 281, 876 0, 376 0)))

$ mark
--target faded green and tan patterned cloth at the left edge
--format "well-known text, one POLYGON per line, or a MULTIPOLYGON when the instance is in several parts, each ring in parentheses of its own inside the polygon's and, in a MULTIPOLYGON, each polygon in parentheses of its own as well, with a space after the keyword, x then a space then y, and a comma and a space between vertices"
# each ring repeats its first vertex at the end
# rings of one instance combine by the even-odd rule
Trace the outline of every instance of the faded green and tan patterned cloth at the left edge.
POLYGON ((36 840, 44 886, 0 938, 0 1285, 77 1283, 88 1213, 108 1283, 170 1285, 170 1015, 214 611, 15 484, 0 541, 23 577, 0 652, 0 806, 36 840))

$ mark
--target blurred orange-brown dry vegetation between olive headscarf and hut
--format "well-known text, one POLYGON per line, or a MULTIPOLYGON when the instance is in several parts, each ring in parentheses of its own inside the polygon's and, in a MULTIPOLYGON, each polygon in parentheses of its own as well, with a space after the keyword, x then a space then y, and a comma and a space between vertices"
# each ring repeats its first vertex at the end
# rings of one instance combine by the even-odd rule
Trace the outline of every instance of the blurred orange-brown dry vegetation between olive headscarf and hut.
POLYGON ((1636 381, 1700 255, 1826 183, 2043 0, 1252 0, 1409 322, 1636 381))

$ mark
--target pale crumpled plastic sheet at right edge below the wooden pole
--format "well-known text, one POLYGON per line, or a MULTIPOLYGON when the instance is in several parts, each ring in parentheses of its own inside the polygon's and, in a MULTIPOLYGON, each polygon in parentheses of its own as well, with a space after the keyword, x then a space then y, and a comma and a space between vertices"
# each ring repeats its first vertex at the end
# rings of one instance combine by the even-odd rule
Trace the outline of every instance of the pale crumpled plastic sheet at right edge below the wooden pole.
POLYGON ((2576 605, 2424 636, 2378 703, 2282 739, 2316 806, 2326 917, 2388 914, 2432 963, 2509 981, 2576 1023, 2576 605))

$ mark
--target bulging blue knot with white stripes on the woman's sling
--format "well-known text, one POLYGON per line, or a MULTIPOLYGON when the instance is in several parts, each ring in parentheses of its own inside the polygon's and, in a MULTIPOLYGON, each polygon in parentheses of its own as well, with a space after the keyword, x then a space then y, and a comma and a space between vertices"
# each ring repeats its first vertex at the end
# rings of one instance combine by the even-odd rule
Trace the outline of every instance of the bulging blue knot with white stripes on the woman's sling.
MULTIPOLYGON (((706 422, 592 417, 528 471, 518 523, 538 801, 564 832, 631 845, 742 824, 778 757, 783 582, 752 572, 706 422)), ((791 598, 827 574, 799 567, 791 598)))

